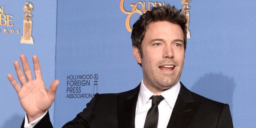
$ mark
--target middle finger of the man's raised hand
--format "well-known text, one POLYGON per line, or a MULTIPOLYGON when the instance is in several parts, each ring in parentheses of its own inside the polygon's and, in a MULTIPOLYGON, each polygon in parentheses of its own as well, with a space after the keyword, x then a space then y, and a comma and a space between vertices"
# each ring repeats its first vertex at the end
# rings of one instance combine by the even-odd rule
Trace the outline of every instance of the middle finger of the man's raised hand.
POLYGON ((25 55, 20 55, 20 61, 22 63, 22 67, 23 67, 23 71, 24 71, 24 74, 26 76, 26 80, 27 81, 31 81, 33 80, 33 77, 32 77, 32 73, 31 73, 31 70, 29 68, 29 63, 28 61, 26 60, 26 56, 25 55))

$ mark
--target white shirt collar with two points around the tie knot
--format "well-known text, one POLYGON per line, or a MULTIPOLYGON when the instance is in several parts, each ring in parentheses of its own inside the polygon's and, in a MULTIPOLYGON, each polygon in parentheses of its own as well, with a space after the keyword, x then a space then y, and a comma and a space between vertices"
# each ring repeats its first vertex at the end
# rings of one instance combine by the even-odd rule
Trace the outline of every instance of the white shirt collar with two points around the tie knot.
MULTIPOLYGON (((169 106, 173 109, 175 102, 177 100, 177 97, 179 95, 179 90, 181 88, 180 82, 175 84, 172 88, 163 91, 160 95, 164 97, 164 100, 169 104, 169 106)), ((144 106, 148 99, 154 95, 148 88, 145 86, 143 80, 141 82, 140 90, 139 90, 139 96, 138 96, 138 109, 140 109, 142 106, 144 106)))

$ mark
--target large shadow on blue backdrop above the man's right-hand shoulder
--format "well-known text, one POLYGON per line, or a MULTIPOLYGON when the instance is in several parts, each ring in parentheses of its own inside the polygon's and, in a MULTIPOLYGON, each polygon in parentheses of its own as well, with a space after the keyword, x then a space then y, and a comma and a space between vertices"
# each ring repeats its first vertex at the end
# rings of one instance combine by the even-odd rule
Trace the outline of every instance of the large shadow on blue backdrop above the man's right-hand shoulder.
POLYGON ((234 78, 223 75, 223 73, 208 73, 200 77, 190 90, 209 99, 229 104, 233 115, 235 87, 234 78))

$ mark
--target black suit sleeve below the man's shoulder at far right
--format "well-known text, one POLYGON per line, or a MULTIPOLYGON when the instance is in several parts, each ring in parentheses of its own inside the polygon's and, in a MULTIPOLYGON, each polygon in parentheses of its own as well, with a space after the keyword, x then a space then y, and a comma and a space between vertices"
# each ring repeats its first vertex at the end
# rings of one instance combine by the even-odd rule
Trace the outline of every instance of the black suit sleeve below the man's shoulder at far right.
POLYGON ((234 128, 230 113, 230 106, 224 104, 218 118, 217 128, 234 128))

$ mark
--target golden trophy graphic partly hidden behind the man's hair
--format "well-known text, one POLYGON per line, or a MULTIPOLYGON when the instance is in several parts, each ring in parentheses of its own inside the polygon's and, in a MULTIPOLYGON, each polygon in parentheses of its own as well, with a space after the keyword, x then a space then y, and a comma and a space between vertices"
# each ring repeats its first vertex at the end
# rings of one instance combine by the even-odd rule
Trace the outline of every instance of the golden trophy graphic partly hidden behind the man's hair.
POLYGON ((187 27, 187 38, 190 38, 190 31, 188 30, 188 24, 189 24, 189 9, 190 7, 188 6, 188 4, 190 3, 190 0, 181 0, 182 4, 184 5, 181 10, 183 11, 183 14, 186 16, 187 19, 187 23, 186 23, 186 27, 187 27))

